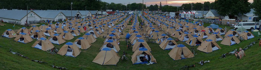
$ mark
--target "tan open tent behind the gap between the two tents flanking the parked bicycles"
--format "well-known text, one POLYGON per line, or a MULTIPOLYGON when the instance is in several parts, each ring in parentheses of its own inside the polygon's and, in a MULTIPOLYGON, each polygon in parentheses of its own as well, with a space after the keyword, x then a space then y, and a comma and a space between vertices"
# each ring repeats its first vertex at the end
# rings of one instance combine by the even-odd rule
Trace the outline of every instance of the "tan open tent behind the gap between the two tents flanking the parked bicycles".
POLYGON ((63 37, 59 34, 54 34, 53 36, 49 37, 49 41, 54 43, 54 44, 62 44, 64 42, 66 42, 63 37))

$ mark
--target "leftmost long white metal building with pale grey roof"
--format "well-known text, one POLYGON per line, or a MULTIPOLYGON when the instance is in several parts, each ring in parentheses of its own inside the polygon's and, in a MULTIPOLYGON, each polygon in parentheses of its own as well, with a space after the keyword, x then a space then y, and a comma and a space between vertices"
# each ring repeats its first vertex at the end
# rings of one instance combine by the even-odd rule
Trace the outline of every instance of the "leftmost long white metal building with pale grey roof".
POLYGON ((26 15, 28 14, 28 22, 40 21, 41 17, 35 12, 31 10, 28 10, 27 14, 26 12, 26 10, 0 10, 0 20, 3 20, 4 22, 21 22, 21 25, 23 25, 26 23, 26 15))

